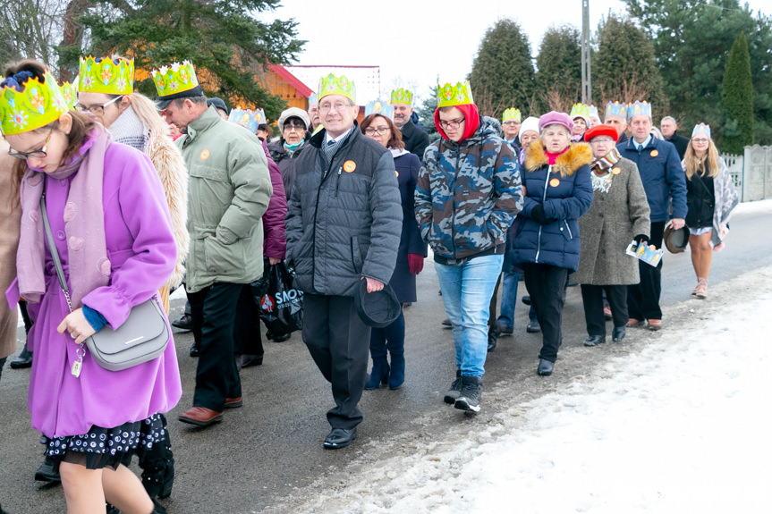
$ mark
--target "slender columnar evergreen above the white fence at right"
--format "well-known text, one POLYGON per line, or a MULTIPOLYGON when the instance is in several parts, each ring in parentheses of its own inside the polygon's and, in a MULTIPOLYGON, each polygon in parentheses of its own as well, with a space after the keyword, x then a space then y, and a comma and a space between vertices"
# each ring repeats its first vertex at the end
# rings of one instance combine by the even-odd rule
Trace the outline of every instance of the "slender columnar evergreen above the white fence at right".
POLYGON ((721 149, 728 154, 742 154, 742 147, 753 141, 753 80, 751 55, 744 33, 734 40, 726 60, 721 103, 724 106, 721 149))

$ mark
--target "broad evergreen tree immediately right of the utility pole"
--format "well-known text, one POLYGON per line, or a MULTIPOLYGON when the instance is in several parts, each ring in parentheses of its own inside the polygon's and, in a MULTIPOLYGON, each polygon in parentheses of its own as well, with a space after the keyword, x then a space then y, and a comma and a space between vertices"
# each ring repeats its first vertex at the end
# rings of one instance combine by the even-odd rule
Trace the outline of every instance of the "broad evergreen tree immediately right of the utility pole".
POLYGON ((652 105, 655 118, 668 112, 649 36, 632 20, 615 14, 600 21, 598 26, 592 87, 599 106, 609 101, 645 100, 652 105))

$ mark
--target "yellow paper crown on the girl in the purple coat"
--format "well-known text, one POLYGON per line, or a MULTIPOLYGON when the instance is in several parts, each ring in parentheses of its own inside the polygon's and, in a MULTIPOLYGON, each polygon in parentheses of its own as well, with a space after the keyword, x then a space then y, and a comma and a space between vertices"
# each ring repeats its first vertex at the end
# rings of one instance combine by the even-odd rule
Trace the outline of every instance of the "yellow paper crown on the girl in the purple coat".
POLYGON ((0 90, 0 128, 5 136, 45 127, 67 110, 62 91, 50 72, 43 75, 42 83, 33 77, 22 85, 5 85, 0 90))

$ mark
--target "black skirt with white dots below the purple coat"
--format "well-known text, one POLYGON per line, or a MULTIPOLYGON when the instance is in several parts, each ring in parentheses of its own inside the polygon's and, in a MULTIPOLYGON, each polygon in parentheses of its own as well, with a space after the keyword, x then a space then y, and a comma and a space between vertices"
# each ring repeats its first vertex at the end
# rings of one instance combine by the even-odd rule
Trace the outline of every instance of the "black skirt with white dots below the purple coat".
POLYGON ((113 428, 91 426, 86 434, 47 439, 46 455, 54 459, 55 468, 64 461, 87 469, 115 469, 120 464, 131 464, 131 456, 138 449, 149 451, 154 444, 163 443, 165 433, 161 415, 154 414, 113 428))

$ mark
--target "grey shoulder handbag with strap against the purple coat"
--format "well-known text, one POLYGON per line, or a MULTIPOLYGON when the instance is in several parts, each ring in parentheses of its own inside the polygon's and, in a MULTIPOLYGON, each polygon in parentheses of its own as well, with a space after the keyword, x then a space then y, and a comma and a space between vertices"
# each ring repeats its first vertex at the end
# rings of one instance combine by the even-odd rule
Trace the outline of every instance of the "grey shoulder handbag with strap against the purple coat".
MULTIPOLYGON (((40 211, 46 228, 48 248, 54 259, 56 276, 59 278, 62 291, 64 291, 64 298, 67 299, 67 307, 72 312, 70 291, 67 288, 67 281, 64 279, 62 261, 56 251, 54 235, 51 233, 51 224, 48 221, 45 189, 40 197, 40 211)), ((98 333, 84 342, 85 346, 89 348, 91 357, 100 367, 110 371, 121 371, 157 358, 164 353, 170 339, 166 317, 158 305, 156 296, 153 296, 144 303, 131 308, 129 317, 116 330, 105 325, 98 333)), ((72 375, 76 377, 81 375, 83 356, 86 355, 86 350, 83 348, 84 343, 81 342, 79 346, 78 359, 72 365, 71 370, 72 375)))

